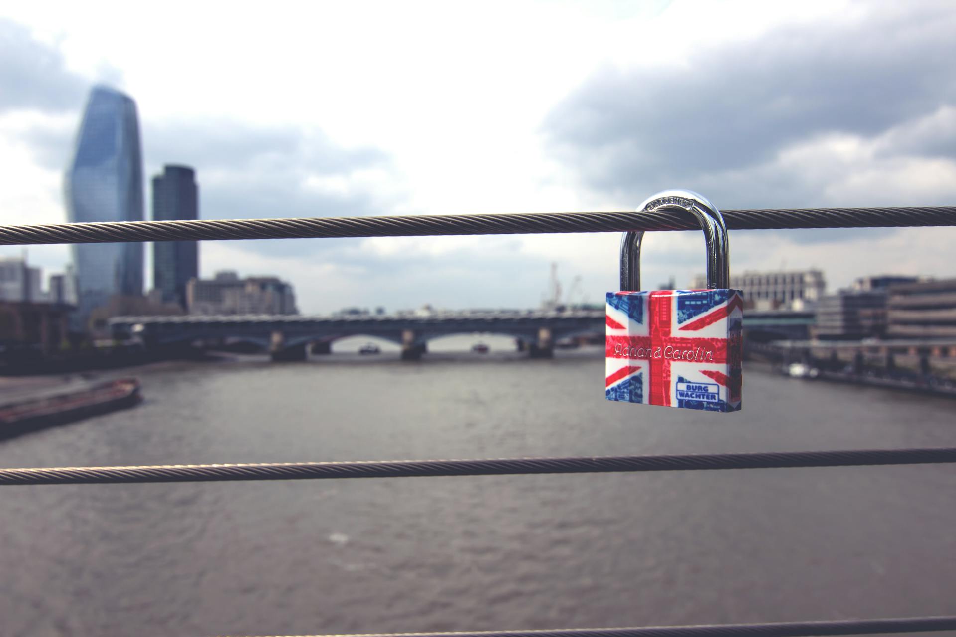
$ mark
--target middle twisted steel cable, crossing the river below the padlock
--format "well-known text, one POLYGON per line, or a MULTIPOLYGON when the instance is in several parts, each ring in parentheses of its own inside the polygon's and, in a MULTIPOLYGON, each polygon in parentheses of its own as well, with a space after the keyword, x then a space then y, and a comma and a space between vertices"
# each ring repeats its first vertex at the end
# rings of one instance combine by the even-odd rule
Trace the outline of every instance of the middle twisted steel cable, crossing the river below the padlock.
POLYGON ((174 464, 131 467, 0 469, 0 485, 222 482, 328 478, 423 478, 532 474, 597 474, 651 471, 714 471, 855 467, 956 462, 956 448, 872 449, 691 456, 532 457, 482 460, 391 460, 174 464))

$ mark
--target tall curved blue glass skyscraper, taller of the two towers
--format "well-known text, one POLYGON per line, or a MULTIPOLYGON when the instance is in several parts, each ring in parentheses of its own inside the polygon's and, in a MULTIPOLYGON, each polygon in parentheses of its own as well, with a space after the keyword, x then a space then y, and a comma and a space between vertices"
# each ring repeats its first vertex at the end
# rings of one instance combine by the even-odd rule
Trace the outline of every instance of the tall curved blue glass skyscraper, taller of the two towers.
MULTIPOLYGON (((66 176, 73 223, 142 221, 142 159, 136 102, 103 86, 90 93, 66 176)), ((142 244, 75 244, 77 317, 116 295, 142 294, 142 244)))

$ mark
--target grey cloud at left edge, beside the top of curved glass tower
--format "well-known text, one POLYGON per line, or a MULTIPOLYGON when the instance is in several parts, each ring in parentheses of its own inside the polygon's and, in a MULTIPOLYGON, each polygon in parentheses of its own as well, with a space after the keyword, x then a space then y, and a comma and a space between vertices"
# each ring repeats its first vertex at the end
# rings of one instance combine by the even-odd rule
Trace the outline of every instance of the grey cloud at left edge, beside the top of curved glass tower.
POLYGON ((0 20, 0 113, 78 108, 89 82, 66 68, 63 54, 25 27, 0 20))

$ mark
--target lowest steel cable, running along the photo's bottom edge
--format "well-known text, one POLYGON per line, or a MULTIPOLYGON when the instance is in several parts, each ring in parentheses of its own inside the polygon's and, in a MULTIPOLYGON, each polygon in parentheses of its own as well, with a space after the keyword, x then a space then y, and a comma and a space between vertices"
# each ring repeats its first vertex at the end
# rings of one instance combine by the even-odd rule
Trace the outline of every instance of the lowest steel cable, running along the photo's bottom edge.
MULTIPOLYGON (((887 632, 936 632, 956 629, 956 616, 905 617, 831 622, 648 626, 643 628, 565 628, 558 630, 488 630, 479 632, 402 632, 284 637, 797 637, 799 635, 873 635, 887 632)), ((272 637, 283 637, 272 635, 272 637)))

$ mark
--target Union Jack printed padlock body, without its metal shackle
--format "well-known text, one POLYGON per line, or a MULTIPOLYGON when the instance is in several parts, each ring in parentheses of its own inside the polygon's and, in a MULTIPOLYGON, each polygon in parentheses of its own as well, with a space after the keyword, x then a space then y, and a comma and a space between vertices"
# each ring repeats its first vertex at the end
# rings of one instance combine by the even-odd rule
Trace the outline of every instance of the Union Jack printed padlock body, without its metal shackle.
POLYGON ((744 297, 737 289, 608 292, 608 400, 741 408, 744 297))

